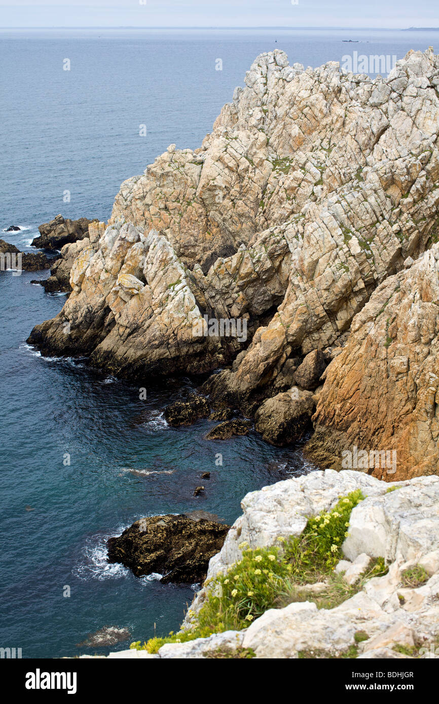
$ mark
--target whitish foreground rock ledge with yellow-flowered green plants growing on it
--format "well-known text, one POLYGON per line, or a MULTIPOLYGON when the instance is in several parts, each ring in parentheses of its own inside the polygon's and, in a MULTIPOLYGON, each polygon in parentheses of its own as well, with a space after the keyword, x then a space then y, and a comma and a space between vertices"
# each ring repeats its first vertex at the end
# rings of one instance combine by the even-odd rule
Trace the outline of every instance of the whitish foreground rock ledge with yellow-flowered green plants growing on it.
POLYGON ((439 657, 439 477, 389 490, 359 472, 316 471, 247 494, 241 505, 181 630, 111 658, 439 657), (314 575, 315 546, 304 574, 294 566, 301 543, 288 553, 288 541, 310 526, 318 542, 330 536, 326 549, 336 555, 314 575), (194 637, 209 603, 208 632, 194 637), (225 628, 230 604, 249 613, 238 629, 225 628), (264 605, 257 617, 255 604, 264 605))

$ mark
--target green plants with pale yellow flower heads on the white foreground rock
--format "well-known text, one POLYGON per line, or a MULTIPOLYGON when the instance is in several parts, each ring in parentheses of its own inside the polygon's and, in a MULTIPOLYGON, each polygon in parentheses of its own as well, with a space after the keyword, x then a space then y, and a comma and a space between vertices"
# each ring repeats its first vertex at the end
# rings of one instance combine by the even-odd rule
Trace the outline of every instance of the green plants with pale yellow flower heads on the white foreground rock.
POLYGON ((341 546, 347 536, 351 511, 363 498, 359 490, 340 498, 332 510, 309 518, 299 536, 278 539, 279 546, 251 550, 242 543, 242 560, 226 574, 218 574, 211 580, 196 617, 189 610, 188 615, 194 617, 190 629, 171 632, 165 638, 155 636, 143 644, 137 641, 130 647, 156 653, 165 643, 184 643, 229 629, 246 628, 269 608, 302 601, 307 584, 325 581, 328 585, 322 593, 307 595, 319 608, 334 608, 350 598, 362 589, 365 579, 386 571, 383 558, 378 558, 355 586, 345 584, 334 572, 342 558, 341 546))

